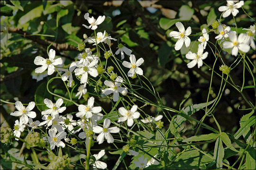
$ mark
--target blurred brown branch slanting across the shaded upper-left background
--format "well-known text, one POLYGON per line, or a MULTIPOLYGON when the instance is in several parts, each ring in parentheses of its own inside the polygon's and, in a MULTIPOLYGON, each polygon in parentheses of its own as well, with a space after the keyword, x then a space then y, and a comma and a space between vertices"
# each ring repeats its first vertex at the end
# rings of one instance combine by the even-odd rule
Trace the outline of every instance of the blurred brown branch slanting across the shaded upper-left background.
POLYGON ((9 33, 21 34, 21 35, 23 35, 24 38, 32 40, 33 42, 37 42, 38 44, 41 44, 41 45, 48 46, 51 43, 53 43, 52 46, 55 48, 54 50, 57 50, 57 51, 77 51, 76 47, 74 47, 73 45, 69 45, 67 43, 57 44, 56 42, 42 40, 38 36, 33 36, 33 34, 29 34, 28 32, 23 31, 19 28, 8 27, 8 31, 9 31, 9 33))

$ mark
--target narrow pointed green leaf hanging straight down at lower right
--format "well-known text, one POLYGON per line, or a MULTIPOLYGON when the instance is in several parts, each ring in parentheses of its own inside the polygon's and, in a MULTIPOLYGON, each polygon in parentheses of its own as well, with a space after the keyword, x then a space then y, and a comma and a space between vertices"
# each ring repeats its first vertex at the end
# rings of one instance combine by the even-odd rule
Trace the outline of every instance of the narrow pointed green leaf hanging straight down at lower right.
POLYGON ((213 159, 216 162, 216 169, 222 169, 222 161, 224 157, 224 148, 220 137, 216 140, 214 147, 213 159))

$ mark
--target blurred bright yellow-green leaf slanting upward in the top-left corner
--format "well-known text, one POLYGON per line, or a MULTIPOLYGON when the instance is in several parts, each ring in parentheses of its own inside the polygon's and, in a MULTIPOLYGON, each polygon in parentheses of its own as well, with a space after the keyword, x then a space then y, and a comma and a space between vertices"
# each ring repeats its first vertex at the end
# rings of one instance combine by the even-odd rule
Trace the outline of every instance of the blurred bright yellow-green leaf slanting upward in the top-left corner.
POLYGON ((18 23, 20 25, 26 24, 28 21, 33 20, 36 17, 41 17, 43 11, 43 5, 40 5, 32 10, 30 10, 29 12, 27 12, 27 14, 25 14, 24 16, 22 16, 19 20, 18 23))

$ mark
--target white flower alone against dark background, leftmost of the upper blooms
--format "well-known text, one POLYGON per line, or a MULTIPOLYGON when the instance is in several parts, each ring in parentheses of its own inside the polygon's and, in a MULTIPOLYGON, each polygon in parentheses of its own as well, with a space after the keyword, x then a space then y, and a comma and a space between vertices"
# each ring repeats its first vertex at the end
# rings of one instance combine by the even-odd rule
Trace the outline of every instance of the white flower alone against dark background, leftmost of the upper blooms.
POLYGON ((63 63, 61 58, 55 58, 55 50, 51 49, 49 51, 49 59, 44 59, 43 57, 37 56, 34 60, 36 65, 42 65, 39 68, 36 68, 36 73, 43 73, 48 68, 48 75, 52 75, 55 71, 55 66, 63 63))

